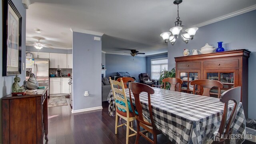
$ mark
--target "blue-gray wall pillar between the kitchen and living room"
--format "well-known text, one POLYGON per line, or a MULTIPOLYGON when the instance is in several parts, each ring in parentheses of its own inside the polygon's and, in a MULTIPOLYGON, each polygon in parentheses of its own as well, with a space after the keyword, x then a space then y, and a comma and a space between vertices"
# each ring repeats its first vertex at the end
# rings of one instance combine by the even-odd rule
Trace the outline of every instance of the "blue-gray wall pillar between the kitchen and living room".
POLYGON ((73 110, 101 106, 101 56, 101 41, 73 32, 73 110))

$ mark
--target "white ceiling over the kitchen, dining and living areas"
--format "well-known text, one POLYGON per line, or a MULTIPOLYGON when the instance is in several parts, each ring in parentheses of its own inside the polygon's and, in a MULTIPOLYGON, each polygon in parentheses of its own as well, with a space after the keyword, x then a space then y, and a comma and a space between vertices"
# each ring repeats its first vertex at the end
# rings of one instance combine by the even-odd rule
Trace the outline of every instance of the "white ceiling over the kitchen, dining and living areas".
MULTIPOLYGON (((104 33, 102 50, 107 53, 125 49, 136 49, 145 55, 167 52, 160 34, 174 26, 177 16, 173 0, 30 2, 26 12, 26 41, 36 42, 41 37, 42 43, 62 49, 72 48, 72 27, 104 33)), ((183 0, 179 5, 180 20, 185 28, 191 27, 255 4, 256 0, 183 0)))

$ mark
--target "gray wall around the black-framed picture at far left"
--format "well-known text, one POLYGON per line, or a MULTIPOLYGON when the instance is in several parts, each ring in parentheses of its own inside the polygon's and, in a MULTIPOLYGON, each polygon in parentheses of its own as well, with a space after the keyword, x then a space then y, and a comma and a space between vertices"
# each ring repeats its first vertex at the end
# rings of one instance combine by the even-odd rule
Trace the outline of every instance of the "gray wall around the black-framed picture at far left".
MULTIPOLYGON (((25 63, 25 58, 26 58, 26 10, 24 9, 21 0, 12 0, 12 2, 14 3, 15 7, 17 8, 17 10, 20 12, 21 16, 22 16, 22 54, 21 54, 21 63, 25 63)), ((0 2, 0 56, 2 56, 2 2, 0 2)), ((2 57, 0 58, 0 72, 2 73, 2 57)), ((14 82, 14 77, 15 76, 2 76, 2 74, 0 75, 0 98, 2 98, 3 96, 6 96, 8 94, 10 94, 12 92, 12 83, 14 82)), ((21 78, 21 82, 20 85, 23 84, 23 81, 25 80, 25 71, 21 71, 21 74, 19 75, 19 77, 21 78)), ((2 109, 2 99, 0 99, 0 109, 2 109)), ((0 143, 2 143, 2 110, 0 110, 0 143)))

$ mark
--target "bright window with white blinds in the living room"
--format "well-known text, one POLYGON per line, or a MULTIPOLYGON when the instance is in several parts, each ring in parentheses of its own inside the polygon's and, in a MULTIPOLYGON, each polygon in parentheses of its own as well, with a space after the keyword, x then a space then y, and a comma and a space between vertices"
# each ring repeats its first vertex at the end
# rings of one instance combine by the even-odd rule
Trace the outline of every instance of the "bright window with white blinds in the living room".
POLYGON ((151 78, 158 80, 161 70, 168 70, 168 58, 159 58, 151 60, 151 78))

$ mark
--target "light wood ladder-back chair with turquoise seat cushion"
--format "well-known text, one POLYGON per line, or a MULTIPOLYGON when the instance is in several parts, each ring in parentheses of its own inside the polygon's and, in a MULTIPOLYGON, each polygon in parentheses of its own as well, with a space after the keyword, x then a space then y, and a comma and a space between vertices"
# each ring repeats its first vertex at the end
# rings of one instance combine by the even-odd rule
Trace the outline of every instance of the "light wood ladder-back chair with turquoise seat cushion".
POLYGON ((125 94, 125 90, 124 90, 124 83, 122 81, 122 78, 120 78, 120 82, 116 81, 116 80, 111 80, 111 78, 109 77, 109 81, 110 81, 110 86, 112 89, 112 93, 114 96, 114 102, 116 105, 116 124, 115 124, 115 134, 117 134, 117 128, 120 126, 124 126, 126 125, 126 144, 128 144, 128 139, 130 136, 135 136, 136 135, 136 130, 134 130, 132 128, 132 124, 130 125, 130 122, 133 122, 134 120, 136 120, 133 112, 129 112, 129 108, 128 108, 128 102, 127 102, 127 98, 126 98, 126 94, 125 94), (117 89, 114 88, 113 85, 118 85, 121 86, 121 89, 117 89), (122 96, 124 96, 122 98, 122 96), (123 102, 125 104, 122 105, 119 102, 123 102), (118 108, 121 108, 122 110, 119 110, 118 108), (125 110, 126 112, 123 112, 123 110, 125 110), (118 116, 124 120, 126 120, 126 123, 120 124, 118 125, 118 116), (134 133, 129 135, 129 129, 132 130, 134 133))

